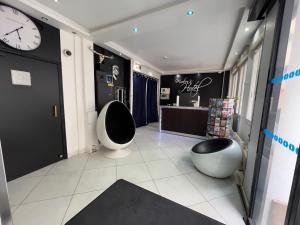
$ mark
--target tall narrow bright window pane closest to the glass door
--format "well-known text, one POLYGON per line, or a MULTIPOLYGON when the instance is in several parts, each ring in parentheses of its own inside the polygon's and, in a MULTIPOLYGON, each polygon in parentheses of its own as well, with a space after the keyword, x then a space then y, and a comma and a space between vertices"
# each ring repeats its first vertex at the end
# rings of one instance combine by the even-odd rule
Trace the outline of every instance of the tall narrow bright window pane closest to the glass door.
POLYGON ((246 119, 249 121, 252 120, 261 51, 262 51, 262 46, 260 46, 254 51, 254 56, 253 56, 250 92, 249 92, 248 106, 247 106, 247 113, 246 113, 246 119))

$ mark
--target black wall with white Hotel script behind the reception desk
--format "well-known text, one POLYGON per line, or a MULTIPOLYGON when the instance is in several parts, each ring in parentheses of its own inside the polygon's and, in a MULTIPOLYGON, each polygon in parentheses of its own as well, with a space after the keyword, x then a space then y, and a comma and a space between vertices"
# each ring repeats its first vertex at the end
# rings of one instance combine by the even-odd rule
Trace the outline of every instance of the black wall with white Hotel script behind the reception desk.
POLYGON ((193 99, 193 97, 190 97, 190 95, 188 94, 189 93, 188 90, 185 90, 183 93, 180 93, 180 90, 182 90, 185 87, 185 85, 180 84, 178 82, 176 83, 176 80, 181 80, 181 81, 186 80, 186 81, 192 81, 192 85, 190 87, 194 86, 195 84, 200 84, 201 81, 202 81, 201 86, 210 83, 210 85, 208 86, 199 88, 198 94, 196 94, 196 95, 200 95, 200 105, 208 106, 210 98, 225 98, 227 96, 228 86, 229 86, 229 74, 230 72, 226 71, 225 73, 221 73, 221 74, 220 73, 199 73, 199 74, 180 74, 180 75, 161 76, 160 87, 170 88, 171 92, 170 92, 170 99, 160 100, 160 104, 172 105, 173 103, 176 103, 176 96, 183 94, 185 96, 184 103, 188 105, 189 104, 188 102, 191 99, 193 99), (224 86, 223 86, 223 80, 224 80, 224 86), (223 95, 222 95, 222 87, 223 87, 223 95))

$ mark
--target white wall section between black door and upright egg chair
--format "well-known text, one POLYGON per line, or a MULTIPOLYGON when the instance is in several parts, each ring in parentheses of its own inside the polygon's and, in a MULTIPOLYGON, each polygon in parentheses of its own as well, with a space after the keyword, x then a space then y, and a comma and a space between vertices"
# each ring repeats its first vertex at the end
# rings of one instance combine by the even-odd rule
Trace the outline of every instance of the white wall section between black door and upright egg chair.
POLYGON ((62 77, 68 156, 91 151, 95 139, 93 43, 61 30, 62 77), (63 50, 72 52, 71 56, 63 50))

